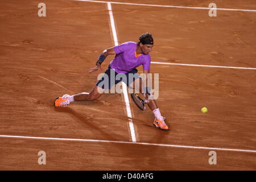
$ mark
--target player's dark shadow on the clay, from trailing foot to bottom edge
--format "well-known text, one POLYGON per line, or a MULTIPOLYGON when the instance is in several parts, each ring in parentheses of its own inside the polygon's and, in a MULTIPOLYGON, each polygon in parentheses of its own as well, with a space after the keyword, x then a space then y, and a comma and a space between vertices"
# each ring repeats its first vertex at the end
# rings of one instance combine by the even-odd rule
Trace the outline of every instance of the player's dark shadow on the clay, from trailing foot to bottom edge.
MULTIPOLYGON (((77 111, 71 109, 70 107, 55 107, 55 110, 58 112, 68 113, 73 118, 76 118, 77 121, 84 123, 86 127, 88 127, 90 130, 93 130, 95 134, 99 134, 102 138, 105 140, 113 140, 118 141, 119 138, 123 138, 121 135, 118 134, 109 134, 108 132, 105 132, 104 130, 100 129, 96 123, 93 123, 92 121, 89 121, 90 118, 86 117, 85 114, 80 114, 77 111)), ((113 114, 114 116, 114 114, 113 114)), ((121 117, 121 121, 127 122, 129 121, 128 117, 121 117)), ((135 125, 143 125, 149 127, 147 130, 148 135, 151 135, 154 140, 152 142, 148 143, 162 143, 162 140, 166 135, 168 135, 169 131, 161 131, 154 126, 152 126, 152 121, 148 121, 149 119, 146 119, 147 123, 142 119, 134 119, 133 122, 135 125), (148 122, 150 124, 148 124, 148 122)), ((144 142, 138 140, 137 142, 144 142)), ((154 167, 156 164, 156 158, 155 155, 159 154, 161 152, 160 150, 163 150, 163 146, 152 146, 152 145, 144 145, 144 144, 122 144, 122 143, 110 143, 110 145, 115 148, 108 150, 105 148, 105 150, 108 150, 108 154, 111 155, 120 155, 119 152, 121 152, 121 156, 119 158, 123 158, 122 163, 127 163, 130 168, 139 169, 139 170, 154 170, 159 169, 160 167, 154 167), (151 166, 151 167, 150 167, 151 166)), ((111 147, 110 147, 111 148, 111 147)), ((118 156, 117 156, 118 157, 118 156)), ((117 158, 118 159, 118 158, 117 158)), ((125 166, 127 166, 125 165, 125 166)), ((127 170, 127 168, 119 168, 120 170, 127 170)))

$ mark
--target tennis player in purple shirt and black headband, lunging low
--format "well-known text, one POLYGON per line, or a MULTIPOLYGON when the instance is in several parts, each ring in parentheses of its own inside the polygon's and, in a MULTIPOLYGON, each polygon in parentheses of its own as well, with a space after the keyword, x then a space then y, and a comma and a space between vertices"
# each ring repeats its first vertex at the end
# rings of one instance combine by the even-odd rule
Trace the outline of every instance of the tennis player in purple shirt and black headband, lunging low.
MULTIPOLYGON (((106 70, 104 76, 101 77, 100 80, 94 85, 92 91, 89 94, 79 93, 73 96, 69 96, 65 94, 62 97, 57 97, 55 100, 55 107, 63 107, 69 105, 73 101, 94 101, 100 98, 100 96, 104 93, 105 89, 112 88, 113 85, 117 84, 120 81, 125 82, 127 86, 133 87, 135 80, 140 78, 138 76, 138 70, 136 69, 140 65, 143 65, 143 73, 147 78, 147 74, 150 73, 150 61, 151 57, 149 53, 152 51, 152 47, 154 46, 154 40, 150 33, 144 33, 139 37, 139 42, 126 42, 120 44, 118 46, 108 48, 101 53, 98 57, 98 61, 96 63, 95 68, 91 68, 89 73, 98 71, 101 69, 102 62, 106 59, 108 55, 115 55, 114 59, 110 62, 108 69, 106 70), (110 74, 114 73, 115 76, 121 75, 125 76, 125 79, 111 80, 110 74), (134 77, 130 78, 129 74, 133 74, 134 77), (103 82, 107 82, 108 84, 103 84, 103 82)), ((140 78, 141 79, 141 78, 140 78)), ((153 125, 158 127, 161 130, 168 131, 168 126, 164 122, 164 117, 161 115, 159 107, 156 105, 156 101, 148 100, 148 96, 150 95, 150 88, 145 87, 142 88, 142 81, 140 84, 140 92, 142 93, 142 89, 144 89, 146 94, 144 94, 144 98, 146 100, 147 105, 150 107, 152 112, 155 115, 155 120, 153 125)), ((134 88, 134 87, 133 87, 134 88)))

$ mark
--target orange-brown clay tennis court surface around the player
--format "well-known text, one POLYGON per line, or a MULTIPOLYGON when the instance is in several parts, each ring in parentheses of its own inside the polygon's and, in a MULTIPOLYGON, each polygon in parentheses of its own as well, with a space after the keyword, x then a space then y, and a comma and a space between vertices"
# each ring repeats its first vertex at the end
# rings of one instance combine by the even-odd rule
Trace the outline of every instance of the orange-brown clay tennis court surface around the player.
POLYGON ((213 17, 211 1, 114 2, 0 2, 0 169, 255 170, 255 1, 216 0, 213 17), (88 73, 100 53, 143 32, 154 36, 150 72, 159 73, 156 102, 169 131, 125 92, 53 106, 90 92, 113 59, 88 73))

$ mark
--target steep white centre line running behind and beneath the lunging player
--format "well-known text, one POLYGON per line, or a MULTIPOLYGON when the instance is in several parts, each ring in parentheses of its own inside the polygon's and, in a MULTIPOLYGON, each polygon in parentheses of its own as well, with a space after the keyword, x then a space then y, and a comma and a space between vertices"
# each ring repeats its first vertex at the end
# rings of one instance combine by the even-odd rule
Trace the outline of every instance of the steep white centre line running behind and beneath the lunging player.
MULTIPOLYGON (((117 31, 115 30, 115 22, 114 22, 114 16, 112 12, 112 6, 111 3, 108 2, 108 10, 109 10, 109 17, 110 17, 110 24, 112 28, 112 34, 114 38, 114 45, 118 46, 118 39, 117 39, 117 31)), ((127 88, 124 82, 122 82, 122 90, 123 90, 123 96, 125 98, 125 105, 126 105, 126 113, 127 117, 129 117, 129 127, 130 127, 130 133, 131 133, 131 140, 133 142, 136 142, 136 136, 135 136, 135 130, 133 126, 133 119, 131 116, 131 108, 130 108, 130 102, 129 102, 129 97, 127 94, 127 88)))

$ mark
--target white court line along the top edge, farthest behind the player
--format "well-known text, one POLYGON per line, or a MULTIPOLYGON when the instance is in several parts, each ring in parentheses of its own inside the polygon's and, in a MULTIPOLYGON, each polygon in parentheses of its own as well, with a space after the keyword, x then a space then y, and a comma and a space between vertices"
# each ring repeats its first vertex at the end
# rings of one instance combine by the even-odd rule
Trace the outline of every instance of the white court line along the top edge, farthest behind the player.
POLYGON ((91 0, 73 0, 73 1, 97 2, 97 3, 113 3, 113 4, 137 5, 137 6, 174 7, 174 8, 183 8, 183 9, 199 9, 199 10, 214 9, 214 10, 225 10, 225 11, 249 11, 249 12, 256 12, 256 10, 244 10, 244 9, 226 9, 226 8, 210 8, 210 7, 189 7, 189 6, 171 6, 171 5, 147 5, 147 4, 127 3, 127 2, 109 2, 109 1, 91 1, 91 0))

